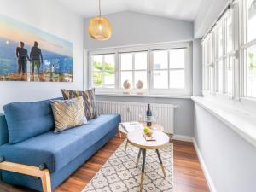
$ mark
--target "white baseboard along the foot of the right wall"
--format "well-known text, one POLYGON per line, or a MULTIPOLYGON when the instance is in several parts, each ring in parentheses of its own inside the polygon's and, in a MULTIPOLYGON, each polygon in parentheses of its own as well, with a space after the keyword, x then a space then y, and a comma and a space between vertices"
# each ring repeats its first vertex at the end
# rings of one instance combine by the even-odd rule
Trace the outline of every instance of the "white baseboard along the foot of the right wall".
POLYGON ((201 152, 197 146, 197 143, 195 141, 195 138, 192 137, 192 142, 194 143, 194 147, 195 147, 195 151, 196 151, 196 154, 198 156, 198 159, 200 161, 200 164, 201 164, 201 168, 205 174, 205 177, 207 179, 207 184, 208 184, 208 187, 210 189, 211 192, 217 192, 217 189, 215 188, 213 182, 212 182, 212 178, 210 177, 210 173, 208 172, 208 169, 207 169, 207 165, 205 164, 205 161, 203 160, 202 158, 202 155, 201 155, 201 152))

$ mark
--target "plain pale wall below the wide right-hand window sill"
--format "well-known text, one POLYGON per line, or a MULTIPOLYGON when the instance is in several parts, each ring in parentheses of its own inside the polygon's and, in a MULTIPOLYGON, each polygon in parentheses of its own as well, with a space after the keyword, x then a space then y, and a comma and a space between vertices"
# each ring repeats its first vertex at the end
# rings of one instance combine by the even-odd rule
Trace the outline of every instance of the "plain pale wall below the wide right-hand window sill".
POLYGON ((195 104, 195 140, 218 192, 256 191, 256 150, 195 104))

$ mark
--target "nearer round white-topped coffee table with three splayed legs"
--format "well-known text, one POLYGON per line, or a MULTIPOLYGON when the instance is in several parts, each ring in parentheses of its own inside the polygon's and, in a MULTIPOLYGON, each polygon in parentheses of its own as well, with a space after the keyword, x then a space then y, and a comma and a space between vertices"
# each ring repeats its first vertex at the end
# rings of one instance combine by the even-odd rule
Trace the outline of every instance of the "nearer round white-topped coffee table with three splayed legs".
MULTIPOLYGON (((163 131, 153 130, 153 137, 155 141, 146 141, 145 137, 143 136, 143 131, 132 131, 127 134, 127 141, 131 145, 140 148, 139 153, 137 155, 137 164, 143 153, 143 168, 142 168, 142 176, 141 176, 141 184, 140 184, 140 191, 143 190, 143 179, 145 175, 145 162, 146 162, 146 151, 147 149, 154 149, 160 161, 160 166, 164 173, 164 177, 166 177, 165 167, 160 157, 160 148, 165 148, 166 145, 169 143, 170 138, 164 133, 163 131)), ((136 166, 137 166, 136 164, 136 166)))

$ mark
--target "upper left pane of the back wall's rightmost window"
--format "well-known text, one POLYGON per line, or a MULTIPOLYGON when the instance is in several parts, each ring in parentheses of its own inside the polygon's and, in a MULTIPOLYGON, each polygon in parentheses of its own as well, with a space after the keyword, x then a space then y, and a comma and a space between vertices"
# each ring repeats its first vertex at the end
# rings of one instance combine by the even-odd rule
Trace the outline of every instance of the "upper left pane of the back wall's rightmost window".
POLYGON ((154 69, 168 68, 168 51, 160 50, 153 52, 154 69))

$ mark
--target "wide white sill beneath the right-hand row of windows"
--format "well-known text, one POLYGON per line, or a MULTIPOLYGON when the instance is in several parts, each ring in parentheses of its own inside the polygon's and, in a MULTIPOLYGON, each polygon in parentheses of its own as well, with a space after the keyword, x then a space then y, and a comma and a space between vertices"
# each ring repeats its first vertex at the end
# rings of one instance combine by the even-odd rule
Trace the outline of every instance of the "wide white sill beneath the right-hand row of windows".
POLYGON ((244 109, 229 105, 220 105, 201 96, 192 96, 191 99, 256 147, 255 113, 248 113, 244 109))

